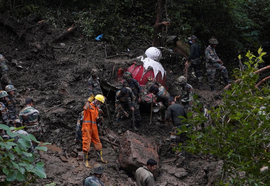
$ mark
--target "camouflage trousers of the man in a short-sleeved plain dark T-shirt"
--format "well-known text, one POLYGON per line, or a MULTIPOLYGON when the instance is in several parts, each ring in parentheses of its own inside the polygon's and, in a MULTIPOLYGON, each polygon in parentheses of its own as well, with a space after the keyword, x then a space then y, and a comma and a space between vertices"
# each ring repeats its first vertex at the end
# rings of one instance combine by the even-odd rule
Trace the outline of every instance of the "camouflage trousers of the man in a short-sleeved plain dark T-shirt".
POLYGON ((170 136, 170 145, 172 148, 176 148, 176 151, 174 151, 176 155, 180 153, 178 151, 179 143, 184 143, 185 136, 186 136, 186 133, 177 134, 178 133, 177 128, 181 129, 181 126, 182 125, 174 127, 173 130, 171 131, 171 136, 170 136))

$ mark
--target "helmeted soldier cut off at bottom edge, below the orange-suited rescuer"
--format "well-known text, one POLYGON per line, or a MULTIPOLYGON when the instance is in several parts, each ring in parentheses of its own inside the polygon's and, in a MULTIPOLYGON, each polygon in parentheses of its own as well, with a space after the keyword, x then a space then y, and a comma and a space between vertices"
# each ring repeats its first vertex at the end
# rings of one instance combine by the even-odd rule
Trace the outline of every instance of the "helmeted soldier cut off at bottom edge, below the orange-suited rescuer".
POLYGON ((92 172, 94 174, 83 181, 83 186, 104 186, 104 183, 100 181, 102 173, 105 172, 104 167, 101 164, 95 164, 92 172))

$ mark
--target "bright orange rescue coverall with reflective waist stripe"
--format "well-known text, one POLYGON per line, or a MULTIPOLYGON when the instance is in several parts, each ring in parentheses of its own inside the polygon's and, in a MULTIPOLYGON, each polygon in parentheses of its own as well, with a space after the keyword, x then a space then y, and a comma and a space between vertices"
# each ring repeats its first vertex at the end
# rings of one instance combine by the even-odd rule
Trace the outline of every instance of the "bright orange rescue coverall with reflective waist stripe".
POLYGON ((98 136, 96 118, 98 117, 98 108, 95 107, 95 103, 91 103, 89 109, 83 112, 82 122, 82 151, 88 153, 90 150, 91 141, 94 143, 94 149, 102 149, 102 144, 98 136))

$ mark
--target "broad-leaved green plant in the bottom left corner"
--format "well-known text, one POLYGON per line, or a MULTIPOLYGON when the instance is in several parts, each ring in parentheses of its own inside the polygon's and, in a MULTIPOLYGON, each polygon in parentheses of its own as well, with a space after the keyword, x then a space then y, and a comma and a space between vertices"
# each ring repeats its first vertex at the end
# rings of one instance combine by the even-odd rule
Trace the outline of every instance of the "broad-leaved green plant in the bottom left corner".
MULTIPOLYGON (((11 137, 20 137, 18 143, 14 143, 12 142, 14 139, 4 140, 0 136, 0 172, 6 175, 5 180, 0 182, 0 185, 10 185, 15 180, 32 182, 35 178, 46 178, 43 169, 44 163, 38 162, 35 166, 32 164, 35 157, 39 156, 33 152, 27 152, 27 148, 31 147, 31 140, 38 142, 36 138, 31 134, 25 136, 12 133, 11 129, 14 129, 14 127, 9 128, 7 125, 0 124, 0 128, 5 129, 11 137), (33 179, 29 180, 29 176, 32 176, 33 179)), ((47 147, 36 147, 35 149, 47 151, 47 147)))

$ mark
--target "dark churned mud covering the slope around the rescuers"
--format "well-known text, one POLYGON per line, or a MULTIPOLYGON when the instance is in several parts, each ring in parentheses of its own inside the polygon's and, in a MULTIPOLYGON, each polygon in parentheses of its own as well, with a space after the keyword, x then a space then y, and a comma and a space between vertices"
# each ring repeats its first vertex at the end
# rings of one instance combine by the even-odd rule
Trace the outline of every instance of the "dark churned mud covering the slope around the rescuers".
MULTIPOLYGON (((40 21, 40 20, 37 20, 40 21)), ((143 55, 148 47, 136 48, 128 46, 129 56, 119 58, 105 58, 104 41, 85 41, 76 35, 76 31, 65 37, 58 43, 52 44, 56 35, 63 30, 55 29, 49 22, 43 22, 31 30, 27 30, 24 35, 25 40, 12 33, 4 27, 0 27, 0 53, 9 61, 10 78, 20 94, 17 99, 17 111, 19 112, 25 105, 26 98, 33 98, 34 107, 40 111, 42 118, 42 141, 50 142, 62 149, 61 153, 71 152, 74 148, 80 148, 74 142, 75 126, 78 114, 82 111, 88 99, 87 81, 90 78, 92 67, 102 69, 101 81, 108 77, 112 80, 116 78, 112 74, 113 64, 118 61, 128 61, 128 57, 138 57, 143 55), (69 49, 72 46, 72 50, 69 49), (14 61, 16 60, 16 61, 14 61), (14 62, 14 63, 12 63, 14 62), (16 65, 16 63, 17 65, 16 65), (16 67, 20 65, 20 67, 16 67)), ((125 50, 118 49, 114 45, 106 44, 108 55, 127 53, 125 50)), ((171 47, 173 48, 173 46, 171 47)), ((175 86, 176 78, 183 75, 183 62, 180 54, 164 52, 163 63, 167 72, 166 86, 172 96, 178 95, 180 88, 175 86), (174 73, 170 74, 172 70, 174 73)), ((129 66, 123 63, 123 66, 129 66)), ((203 66, 202 66, 203 67, 203 66)), ((116 67, 115 67, 116 68, 116 67)), ((116 71, 114 71, 116 73, 116 71)), ((220 74, 219 74, 220 75, 220 74)), ((192 85, 196 93, 202 95, 200 101, 205 104, 207 109, 221 103, 221 95, 212 93, 207 85, 206 71, 203 67, 203 90, 199 91, 196 80, 193 78, 192 85)), ((3 84, 3 82, 2 82, 3 84)), ((222 89, 222 83, 216 85, 216 90, 222 89)), ((108 98, 109 111, 114 113, 115 92, 103 90, 108 98)), ((149 107, 148 107, 149 108, 149 107)), ((165 141, 170 137, 169 129, 166 124, 157 121, 157 114, 153 116, 154 122, 150 126, 150 109, 141 107, 142 128, 138 134, 147 137, 160 146, 160 166, 161 170, 156 179, 157 185, 207 185, 207 177, 203 172, 203 167, 209 162, 185 153, 186 159, 180 168, 175 167, 176 161, 162 163, 163 161, 174 159, 170 145, 165 141), (175 171, 174 171, 175 170, 175 171), (176 172, 186 173, 179 176, 176 172), (181 179, 179 179, 179 177, 181 179)), ((106 120, 105 123, 108 123, 106 120)), ((112 123, 109 133, 117 135, 117 130, 121 128, 129 129, 130 120, 123 121, 122 126, 112 123)), ((118 136, 116 143, 119 143, 121 136, 118 136)), ((116 163, 117 157, 114 150, 107 144, 103 149, 104 159, 109 163, 105 166, 105 173, 102 181, 107 185, 133 185, 134 179, 116 163)), ((57 185, 82 185, 85 177, 91 174, 90 170, 84 168, 81 161, 69 157, 69 162, 62 162, 58 157, 57 151, 44 152, 42 161, 45 163, 47 179, 38 179, 35 185, 44 185, 54 182, 57 185)), ((94 165, 95 153, 91 147, 90 163, 94 165)))

